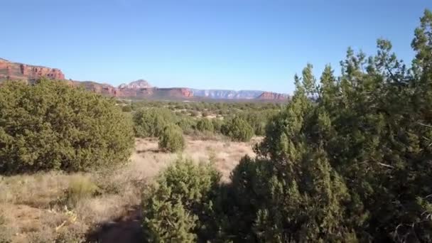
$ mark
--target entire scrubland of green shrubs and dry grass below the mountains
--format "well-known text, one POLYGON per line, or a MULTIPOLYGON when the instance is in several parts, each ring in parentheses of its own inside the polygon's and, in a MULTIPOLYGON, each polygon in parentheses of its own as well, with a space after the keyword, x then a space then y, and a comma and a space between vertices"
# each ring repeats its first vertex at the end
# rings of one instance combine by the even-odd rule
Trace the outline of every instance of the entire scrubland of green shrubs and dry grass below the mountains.
POLYGON ((0 242, 432 242, 431 11, 411 47, 308 64, 283 105, 7 82, 0 242))

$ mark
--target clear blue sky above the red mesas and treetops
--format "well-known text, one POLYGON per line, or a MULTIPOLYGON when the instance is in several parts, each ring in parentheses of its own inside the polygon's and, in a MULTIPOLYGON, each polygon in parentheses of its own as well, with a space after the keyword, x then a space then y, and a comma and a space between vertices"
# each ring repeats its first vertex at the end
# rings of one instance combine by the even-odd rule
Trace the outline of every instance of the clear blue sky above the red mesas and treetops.
POLYGON ((388 38, 411 60, 431 0, 0 1, 0 57, 119 85, 292 92, 306 63, 318 75, 348 46, 388 38))

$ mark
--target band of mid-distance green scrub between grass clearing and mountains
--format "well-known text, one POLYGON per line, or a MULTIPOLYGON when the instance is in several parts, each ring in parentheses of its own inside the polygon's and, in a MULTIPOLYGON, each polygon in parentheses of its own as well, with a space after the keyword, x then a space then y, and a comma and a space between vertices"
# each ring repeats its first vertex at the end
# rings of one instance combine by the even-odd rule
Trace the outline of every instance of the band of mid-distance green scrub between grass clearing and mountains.
MULTIPOLYGON (((240 117, 252 126, 253 134, 264 135, 264 128, 282 105, 274 103, 221 102, 131 102, 119 100, 124 112, 132 111, 135 134, 139 137, 158 136, 167 124, 177 124, 188 135, 222 134, 222 126, 240 117), (208 117, 217 115, 217 117, 208 117), (200 116, 201 115, 201 116, 200 116)), ((232 127, 233 129, 236 126, 232 127)), ((227 134, 229 135, 229 134, 227 134)), ((234 140, 239 140, 234 138, 234 140)))

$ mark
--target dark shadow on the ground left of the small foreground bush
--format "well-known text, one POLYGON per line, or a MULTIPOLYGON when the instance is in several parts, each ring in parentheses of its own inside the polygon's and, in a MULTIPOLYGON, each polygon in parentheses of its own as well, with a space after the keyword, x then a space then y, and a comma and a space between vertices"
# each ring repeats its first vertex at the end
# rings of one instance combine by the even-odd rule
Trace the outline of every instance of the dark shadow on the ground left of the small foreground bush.
POLYGON ((112 222, 107 222, 90 232, 87 242, 144 242, 141 229, 141 207, 131 207, 126 215, 112 222))

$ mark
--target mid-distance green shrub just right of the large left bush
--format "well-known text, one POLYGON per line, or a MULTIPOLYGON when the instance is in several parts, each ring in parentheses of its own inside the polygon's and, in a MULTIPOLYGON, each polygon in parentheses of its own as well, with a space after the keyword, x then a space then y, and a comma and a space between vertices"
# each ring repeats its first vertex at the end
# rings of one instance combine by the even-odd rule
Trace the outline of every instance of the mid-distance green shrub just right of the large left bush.
POLYGON ((175 115, 166 108, 139 109, 134 114, 135 135, 160 136, 166 125, 175 122, 175 115))

